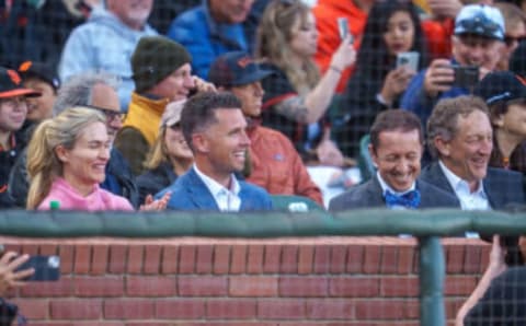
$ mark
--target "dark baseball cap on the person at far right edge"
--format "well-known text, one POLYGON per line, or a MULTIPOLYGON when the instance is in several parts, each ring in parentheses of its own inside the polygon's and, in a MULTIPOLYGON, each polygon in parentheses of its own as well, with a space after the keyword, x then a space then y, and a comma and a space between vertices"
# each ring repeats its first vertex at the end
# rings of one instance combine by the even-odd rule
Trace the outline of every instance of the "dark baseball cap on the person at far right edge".
POLYGON ((526 100, 526 80, 511 71, 490 72, 474 86, 473 93, 488 105, 526 100))

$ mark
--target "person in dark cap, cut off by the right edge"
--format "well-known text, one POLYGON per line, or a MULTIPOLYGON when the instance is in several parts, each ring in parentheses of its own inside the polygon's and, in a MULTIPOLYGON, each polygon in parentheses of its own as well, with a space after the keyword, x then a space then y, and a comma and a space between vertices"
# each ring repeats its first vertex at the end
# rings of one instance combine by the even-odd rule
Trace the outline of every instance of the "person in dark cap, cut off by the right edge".
POLYGON ((490 108, 493 150, 490 166, 526 173, 526 85, 510 71, 488 73, 474 89, 490 108))

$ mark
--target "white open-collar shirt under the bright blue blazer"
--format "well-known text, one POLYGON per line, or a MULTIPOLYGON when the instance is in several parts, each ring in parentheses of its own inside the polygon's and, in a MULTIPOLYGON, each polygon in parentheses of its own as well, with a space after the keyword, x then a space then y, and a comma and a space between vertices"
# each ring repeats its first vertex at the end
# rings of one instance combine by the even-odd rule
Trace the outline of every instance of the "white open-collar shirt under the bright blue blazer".
POLYGON ((239 211, 241 208, 241 198, 239 197, 241 187, 233 174, 230 176, 230 189, 227 189, 215 179, 203 174, 203 172, 201 172, 195 164, 194 170, 197 176, 201 177, 205 186, 210 191, 220 211, 239 211))

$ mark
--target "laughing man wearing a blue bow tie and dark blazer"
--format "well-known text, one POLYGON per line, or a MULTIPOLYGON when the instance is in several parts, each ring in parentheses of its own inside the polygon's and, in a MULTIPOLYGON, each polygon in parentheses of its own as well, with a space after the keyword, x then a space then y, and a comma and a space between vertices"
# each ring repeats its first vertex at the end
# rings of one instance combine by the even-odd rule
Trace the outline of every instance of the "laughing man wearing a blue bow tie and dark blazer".
POLYGON ((376 177, 333 198, 329 210, 388 207, 392 209, 455 207, 454 196, 418 179, 424 136, 414 114, 389 109, 370 128, 369 153, 376 177))

